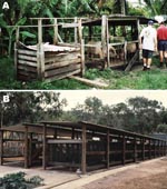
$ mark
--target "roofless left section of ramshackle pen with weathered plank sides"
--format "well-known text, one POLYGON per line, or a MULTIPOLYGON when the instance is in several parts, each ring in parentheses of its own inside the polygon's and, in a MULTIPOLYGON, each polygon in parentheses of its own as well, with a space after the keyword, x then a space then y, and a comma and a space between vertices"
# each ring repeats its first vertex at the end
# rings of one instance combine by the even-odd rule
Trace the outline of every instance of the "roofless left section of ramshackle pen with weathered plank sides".
POLYGON ((38 21, 38 24, 17 28, 14 46, 17 79, 52 81, 73 74, 82 76, 85 56, 80 34, 81 21, 66 18, 33 18, 32 21, 38 21), (28 38, 24 40, 22 33, 29 29, 37 29, 38 38, 33 39, 37 43, 31 44, 32 42, 30 43, 28 38), (66 33, 67 29, 70 32, 73 31, 73 42, 68 43, 62 40, 60 36, 60 32, 63 33, 62 29, 66 29, 66 33), (51 31, 52 34, 49 34, 51 31))

